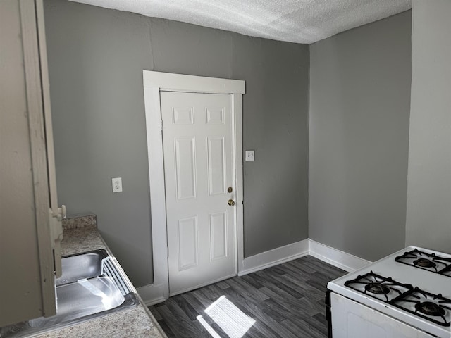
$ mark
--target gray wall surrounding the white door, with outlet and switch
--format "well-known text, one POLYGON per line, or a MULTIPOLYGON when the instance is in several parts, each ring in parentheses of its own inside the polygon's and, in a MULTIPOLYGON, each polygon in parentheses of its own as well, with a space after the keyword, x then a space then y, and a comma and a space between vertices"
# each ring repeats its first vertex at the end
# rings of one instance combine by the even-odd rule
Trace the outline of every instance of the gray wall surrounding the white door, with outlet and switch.
POLYGON ((245 256, 307 238, 309 46, 44 1, 58 200, 152 282, 142 70, 246 81, 245 256), (123 177, 123 192, 111 192, 123 177))

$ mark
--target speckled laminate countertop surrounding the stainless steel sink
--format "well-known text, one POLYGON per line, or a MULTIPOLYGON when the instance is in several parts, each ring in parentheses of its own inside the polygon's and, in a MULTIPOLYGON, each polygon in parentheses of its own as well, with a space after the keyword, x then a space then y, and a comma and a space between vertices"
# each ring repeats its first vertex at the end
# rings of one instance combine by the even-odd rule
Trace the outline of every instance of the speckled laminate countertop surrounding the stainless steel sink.
MULTIPOLYGON (((109 251, 109 248, 97 231, 95 216, 65 220, 63 228, 64 239, 61 242, 62 256, 96 249, 106 249, 109 251)), ((41 334, 37 337, 167 338, 138 294, 137 298, 140 302, 136 306, 124 308, 121 311, 99 318, 93 318, 85 323, 41 334)))

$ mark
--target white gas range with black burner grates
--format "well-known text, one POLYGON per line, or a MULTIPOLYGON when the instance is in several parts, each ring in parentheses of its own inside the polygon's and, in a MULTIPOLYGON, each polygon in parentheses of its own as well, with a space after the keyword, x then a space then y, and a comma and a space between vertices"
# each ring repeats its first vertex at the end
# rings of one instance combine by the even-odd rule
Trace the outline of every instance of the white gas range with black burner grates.
POLYGON ((332 338, 451 337, 451 255, 408 246, 328 283, 332 338))

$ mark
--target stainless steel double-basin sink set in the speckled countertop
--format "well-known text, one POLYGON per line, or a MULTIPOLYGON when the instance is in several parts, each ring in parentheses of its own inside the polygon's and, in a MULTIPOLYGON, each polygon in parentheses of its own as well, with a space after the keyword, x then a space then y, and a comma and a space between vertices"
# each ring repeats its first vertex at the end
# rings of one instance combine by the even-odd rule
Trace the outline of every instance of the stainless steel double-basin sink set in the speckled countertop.
POLYGON ((101 249, 62 258, 63 274, 56 279, 56 315, 40 317, 0 332, 25 337, 66 327, 119 311, 137 303, 133 287, 116 258, 101 249))

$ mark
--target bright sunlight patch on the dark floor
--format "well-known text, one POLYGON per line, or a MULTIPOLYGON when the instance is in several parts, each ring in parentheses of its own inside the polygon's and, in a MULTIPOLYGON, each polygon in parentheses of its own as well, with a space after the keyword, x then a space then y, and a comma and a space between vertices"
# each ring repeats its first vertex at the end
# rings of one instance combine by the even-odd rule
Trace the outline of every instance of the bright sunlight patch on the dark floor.
MULTIPOLYGON (((229 301, 226 296, 219 297, 214 303, 205 309, 205 313, 215 321, 216 324, 230 338, 241 338, 245 335, 255 320, 245 315, 239 308, 229 301)), ((205 329, 211 334, 211 337, 220 337, 216 331, 202 318, 202 315, 197 316, 197 320, 201 323, 205 329)))

